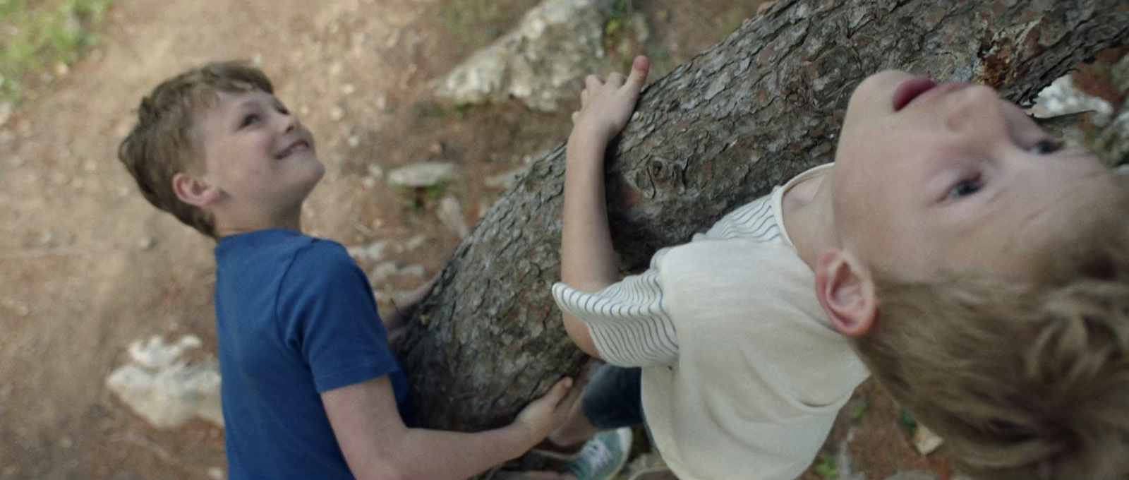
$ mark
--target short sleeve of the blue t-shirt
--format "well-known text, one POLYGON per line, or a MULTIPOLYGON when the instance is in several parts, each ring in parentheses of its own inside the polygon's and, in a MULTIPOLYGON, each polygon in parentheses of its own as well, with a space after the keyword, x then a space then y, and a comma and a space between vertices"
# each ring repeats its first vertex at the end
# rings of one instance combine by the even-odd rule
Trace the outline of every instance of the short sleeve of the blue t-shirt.
POLYGON ((296 254, 280 285, 278 316, 318 393, 400 369, 368 278, 335 243, 318 241, 296 254))

